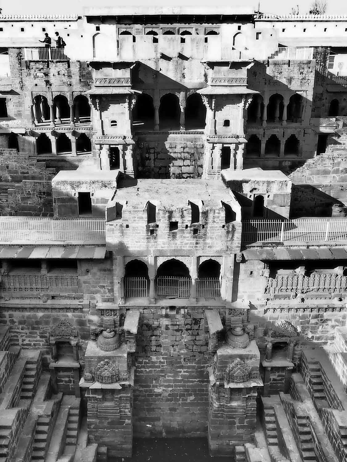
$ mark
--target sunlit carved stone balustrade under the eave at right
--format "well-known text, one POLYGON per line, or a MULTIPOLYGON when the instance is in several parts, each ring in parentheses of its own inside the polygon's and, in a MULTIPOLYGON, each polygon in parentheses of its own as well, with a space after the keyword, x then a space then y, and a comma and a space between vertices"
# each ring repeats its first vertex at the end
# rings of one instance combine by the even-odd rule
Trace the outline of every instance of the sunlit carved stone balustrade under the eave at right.
POLYGON ((333 293, 347 292, 347 276, 332 273, 312 273, 310 276, 300 274, 278 274, 269 278, 265 293, 270 299, 276 295, 290 298, 291 293, 320 292, 327 296, 333 293))

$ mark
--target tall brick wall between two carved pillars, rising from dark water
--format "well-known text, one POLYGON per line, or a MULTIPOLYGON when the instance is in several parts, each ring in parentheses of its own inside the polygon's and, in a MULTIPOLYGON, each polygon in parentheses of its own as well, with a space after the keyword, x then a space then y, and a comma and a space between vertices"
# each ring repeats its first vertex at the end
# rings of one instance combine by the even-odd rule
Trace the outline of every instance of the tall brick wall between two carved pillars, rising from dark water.
POLYGON ((197 437, 207 432, 209 377, 204 313, 144 309, 135 353, 134 436, 197 437))

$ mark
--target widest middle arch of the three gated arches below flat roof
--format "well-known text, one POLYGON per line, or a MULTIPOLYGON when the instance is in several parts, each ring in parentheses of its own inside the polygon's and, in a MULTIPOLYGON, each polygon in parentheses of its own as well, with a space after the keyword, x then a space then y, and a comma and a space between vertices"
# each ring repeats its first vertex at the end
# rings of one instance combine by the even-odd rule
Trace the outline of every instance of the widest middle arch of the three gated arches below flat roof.
POLYGON ((192 278, 184 263, 175 258, 164 261, 157 269, 157 295, 161 298, 189 298, 192 278))

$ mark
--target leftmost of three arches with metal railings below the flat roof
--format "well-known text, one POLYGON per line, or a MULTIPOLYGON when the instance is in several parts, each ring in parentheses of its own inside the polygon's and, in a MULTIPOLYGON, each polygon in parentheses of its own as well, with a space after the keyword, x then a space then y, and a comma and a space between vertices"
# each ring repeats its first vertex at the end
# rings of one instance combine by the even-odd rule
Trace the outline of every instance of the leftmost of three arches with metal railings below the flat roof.
POLYGON ((124 269, 125 298, 148 297, 148 266, 144 261, 131 260, 124 269))

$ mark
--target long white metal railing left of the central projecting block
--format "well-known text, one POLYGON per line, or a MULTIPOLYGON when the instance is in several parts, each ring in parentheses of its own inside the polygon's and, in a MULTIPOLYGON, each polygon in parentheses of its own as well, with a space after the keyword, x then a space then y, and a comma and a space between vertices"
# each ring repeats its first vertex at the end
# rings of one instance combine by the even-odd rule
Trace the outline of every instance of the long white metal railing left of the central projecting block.
POLYGON ((105 242, 105 219, 0 217, 0 241, 105 242))

